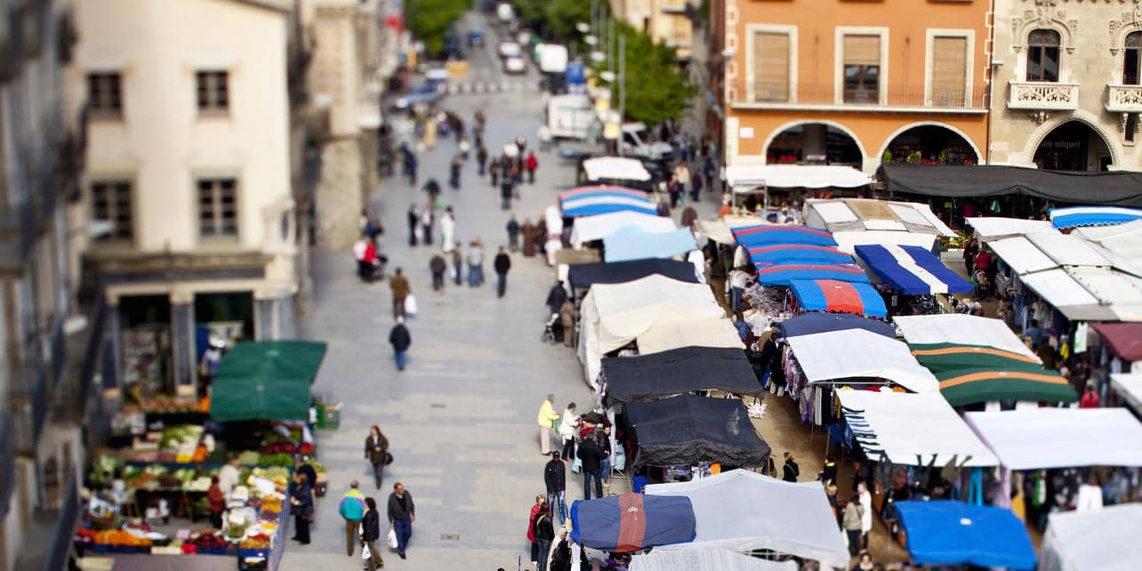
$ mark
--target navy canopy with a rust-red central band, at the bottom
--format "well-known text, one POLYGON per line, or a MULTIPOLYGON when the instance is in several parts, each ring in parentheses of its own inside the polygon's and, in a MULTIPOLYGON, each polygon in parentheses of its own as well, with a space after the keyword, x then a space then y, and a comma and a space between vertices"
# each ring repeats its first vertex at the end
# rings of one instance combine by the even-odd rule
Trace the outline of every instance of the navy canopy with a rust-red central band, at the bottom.
POLYGON ((627 492, 571 504, 571 540, 610 553, 693 541, 694 526, 685 496, 627 492))

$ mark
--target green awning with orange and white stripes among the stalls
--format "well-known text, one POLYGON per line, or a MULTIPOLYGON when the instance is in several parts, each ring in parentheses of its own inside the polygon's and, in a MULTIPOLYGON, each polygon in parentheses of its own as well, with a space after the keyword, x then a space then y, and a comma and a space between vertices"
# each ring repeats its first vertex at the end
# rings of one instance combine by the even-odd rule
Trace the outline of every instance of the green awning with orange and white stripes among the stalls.
POLYGON ((1037 359, 994 347, 956 344, 909 345, 916 360, 940 380, 952 407, 989 401, 1075 402, 1078 395, 1037 359))

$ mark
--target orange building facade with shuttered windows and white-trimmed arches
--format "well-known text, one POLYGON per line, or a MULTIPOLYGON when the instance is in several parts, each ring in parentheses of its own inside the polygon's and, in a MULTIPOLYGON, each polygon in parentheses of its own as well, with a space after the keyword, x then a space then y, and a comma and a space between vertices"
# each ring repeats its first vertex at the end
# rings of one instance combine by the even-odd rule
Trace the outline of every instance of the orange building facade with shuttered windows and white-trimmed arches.
POLYGON ((989 0, 714 0, 726 164, 982 163, 989 0))

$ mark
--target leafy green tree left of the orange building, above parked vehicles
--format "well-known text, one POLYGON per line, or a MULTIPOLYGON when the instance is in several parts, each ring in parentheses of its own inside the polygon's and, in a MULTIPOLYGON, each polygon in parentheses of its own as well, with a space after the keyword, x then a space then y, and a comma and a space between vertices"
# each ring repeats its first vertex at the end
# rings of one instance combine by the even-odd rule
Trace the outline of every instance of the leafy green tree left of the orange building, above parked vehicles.
MULTIPOLYGON (((614 32, 626 38, 626 120, 654 126, 682 118, 697 89, 678 66, 674 48, 654 42, 649 34, 625 22, 617 22, 614 32)), ((603 69, 605 66, 600 67, 603 69)), ((618 69, 616 62, 614 71, 618 69)), ((617 108, 618 80, 612 93, 617 108)))

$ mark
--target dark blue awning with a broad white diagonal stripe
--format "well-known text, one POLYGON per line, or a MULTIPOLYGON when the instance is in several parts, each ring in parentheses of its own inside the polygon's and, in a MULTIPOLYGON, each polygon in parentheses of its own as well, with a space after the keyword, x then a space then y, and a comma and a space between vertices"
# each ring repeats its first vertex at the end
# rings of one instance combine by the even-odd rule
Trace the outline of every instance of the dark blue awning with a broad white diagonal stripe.
POLYGON ((972 291, 967 280, 918 246, 862 244, 855 251, 877 278, 906 296, 972 291))

